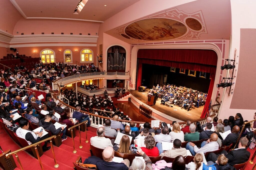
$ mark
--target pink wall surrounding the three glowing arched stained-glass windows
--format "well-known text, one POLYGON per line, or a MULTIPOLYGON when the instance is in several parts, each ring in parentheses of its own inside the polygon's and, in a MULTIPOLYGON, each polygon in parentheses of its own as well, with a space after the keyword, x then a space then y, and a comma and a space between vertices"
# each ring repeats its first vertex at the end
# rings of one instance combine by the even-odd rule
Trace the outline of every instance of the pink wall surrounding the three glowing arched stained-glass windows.
MULTIPOLYGON (((26 56, 31 56, 31 57, 39 57, 40 56, 40 51, 43 49, 52 49, 55 52, 55 57, 56 57, 56 62, 59 62, 59 60, 61 60, 61 62, 64 59, 64 51, 66 49, 70 49, 72 51, 72 58, 73 61, 78 61, 80 62, 80 51, 84 48, 89 48, 93 51, 93 62, 94 64, 96 64, 97 61, 97 57, 96 57, 96 47, 75 47, 75 46, 46 46, 46 47, 20 47, 19 48, 19 54, 25 54, 26 56), (60 52, 58 50, 61 50, 60 52), (77 52, 75 50, 78 50, 77 52), (36 53, 34 53, 33 51, 36 51, 36 53)), ((1 54, 1 53, 0 53, 1 54)), ((2 58, 2 55, 0 55, 2 58)), ((75 63, 75 62, 73 62, 75 63)), ((84 64, 84 63, 83 63, 84 64)), ((88 63, 89 65, 89 63, 88 63)))

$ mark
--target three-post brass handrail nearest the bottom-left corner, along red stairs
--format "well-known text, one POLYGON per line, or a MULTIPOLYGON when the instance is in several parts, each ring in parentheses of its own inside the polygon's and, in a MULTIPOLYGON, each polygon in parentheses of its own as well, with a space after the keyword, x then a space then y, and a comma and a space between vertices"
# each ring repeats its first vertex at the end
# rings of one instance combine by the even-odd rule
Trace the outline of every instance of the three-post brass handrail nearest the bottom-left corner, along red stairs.
POLYGON ((16 159, 17 159, 17 161, 18 161, 18 163, 19 163, 19 165, 20 165, 20 167, 21 167, 21 169, 23 170, 22 164, 21 164, 21 162, 20 162, 20 160, 19 160, 19 157, 18 157, 17 153, 18 153, 18 152, 21 152, 21 151, 24 151, 24 150, 26 150, 26 149, 33 148, 33 147, 34 147, 34 148, 35 148, 35 151, 36 151, 36 155, 37 155, 38 162, 39 162, 39 164, 40 164, 40 166, 41 166, 41 169, 44 169, 44 168, 43 168, 43 165, 42 165, 42 162, 41 162, 41 160, 40 160, 40 156, 39 156, 39 153, 38 153, 38 147, 37 147, 37 146, 38 146, 39 144, 45 142, 45 141, 50 140, 52 155, 53 155, 54 162, 55 162, 54 167, 55 167, 55 168, 58 168, 58 167, 59 167, 59 164, 57 164, 57 162, 56 162, 56 158, 55 158, 55 154, 54 154, 54 150, 53 150, 53 146, 52 146, 52 140, 51 140, 51 139, 53 139, 53 138, 56 138, 56 135, 53 135, 53 136, 51 136, 51 137, 49 137, 49 138, 40 140, 39 142, 33 143, 33 144, 31 144, 31 145, 29 145, 29 146, 26 146, 26 147, 24 147, 24 148, 20 148, 20 149, 18 149, 18 150, 16 150, 16 151, 7 153, 5 156, 6 156, 6 158, 9 158, 10 155, 13 155, 13 154, 14 154, 15 157, 16 157, 16 159))

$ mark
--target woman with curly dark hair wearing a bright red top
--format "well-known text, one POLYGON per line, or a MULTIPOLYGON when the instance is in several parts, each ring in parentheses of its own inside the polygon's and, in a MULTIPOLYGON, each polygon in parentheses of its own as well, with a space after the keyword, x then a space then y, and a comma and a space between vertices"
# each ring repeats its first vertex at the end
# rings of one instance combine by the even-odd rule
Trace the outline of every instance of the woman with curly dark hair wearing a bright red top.
MULTIPOLYGON (((135 147, 138 146, 136 140, 134 141, 134 144, 135 147)), ((146 147, 141 147, 141 149, 143 150, 143 152, 146 153, 147 156, 159 156, 159 151, 157 147, 155 147, 155 139, 152 136, 146 136, 144 139, 144 144, 146 145, 146 147)))

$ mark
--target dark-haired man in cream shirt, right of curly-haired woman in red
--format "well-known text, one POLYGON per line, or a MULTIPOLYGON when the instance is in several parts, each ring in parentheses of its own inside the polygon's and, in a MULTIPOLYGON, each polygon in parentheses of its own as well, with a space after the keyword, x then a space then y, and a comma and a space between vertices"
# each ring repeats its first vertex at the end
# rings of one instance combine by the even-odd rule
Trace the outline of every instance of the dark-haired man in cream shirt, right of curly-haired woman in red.
POLYGON ((159 150, 160 156, 162 158, 164 156, 167 156, 169 158, 176 158, 178 155, 187 156, 187 150, 186 148, 181 148, 181 141, 179 139, 175 139, 173 141, 173 148, 167 151, 163 151, 162 149, 162 143, 158 142, 156 144, 156 147, 159 150))

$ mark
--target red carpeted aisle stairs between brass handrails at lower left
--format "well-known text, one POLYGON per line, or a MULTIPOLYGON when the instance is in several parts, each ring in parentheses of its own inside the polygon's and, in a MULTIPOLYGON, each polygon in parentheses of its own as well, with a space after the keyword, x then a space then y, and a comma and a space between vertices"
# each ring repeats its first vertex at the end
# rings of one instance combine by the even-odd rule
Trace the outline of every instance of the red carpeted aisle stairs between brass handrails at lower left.
MULTIPOLYGON (((76 137, 74 138, 75 142, 75 148, 77 150, 77 153, 73 153, 73 142, 72 138, 68 137, 65 141, 62 142, 62 145, 60 147, 54 147, 54 153, 55 157, 57 160, 57 164, 59 164, 58 169, 73 169, 73 163, 79 155, 82 156, 82 161, 84 161, 88 156, 90 156, 90 138, 92 136, 96 135, 96 128, 93 127, 88 127, 87 131, 87 138, 89 140, 88 143, 86 143, 86 133, 81 132, 81 145, 83 148, 79 148, 79 133, 78 130, 76 130, 76 137)), ((4 151, 11 149, 11 151, 15 151, 17 149, 20 149, 20 146, 15 143, 12 138, 5 132, 5 130, 0 127, 0 145, 4 151), (4 139, 4 140, 3 140, 4 139)), ((48 143, 48 146, 50 144, 48 143)), ((25 151, 19 152, 18 153, 19 159, 21 161, 21 164, 23 166, 23 169, 41 169, 39 162, 37 159, 35 159, 33 156, 28 154, 25 151)), ((14 160, 16 162, 17 168, 16 169, 21 169, 17 159, 13 155, 14 160)), ((44 166, 44 169, 56 169, 54 168, 54 159, 52 156, 52 151, 51 149, 44 152, 44 154, 40 157, 42 164, 44 166)))

